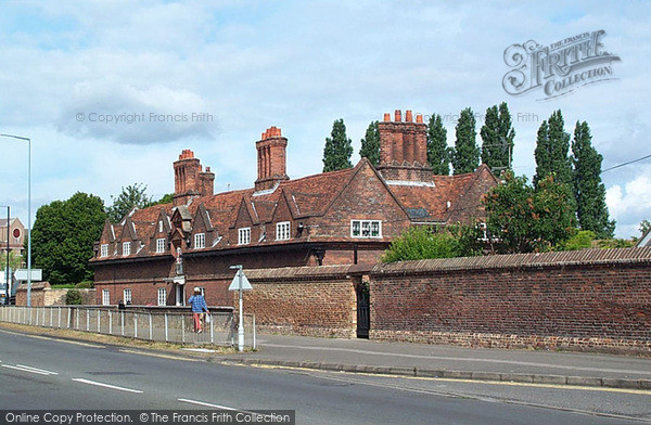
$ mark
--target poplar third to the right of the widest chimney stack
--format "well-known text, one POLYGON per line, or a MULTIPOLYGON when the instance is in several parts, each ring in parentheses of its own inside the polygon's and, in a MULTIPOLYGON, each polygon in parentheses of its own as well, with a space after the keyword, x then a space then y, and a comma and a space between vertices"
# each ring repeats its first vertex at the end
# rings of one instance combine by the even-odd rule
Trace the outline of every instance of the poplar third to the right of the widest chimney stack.
POLYGON ((511 169, 515 130, 506 102, 486 110, 486 118, 480 130, 482 136, 482 163, 490 169, 511 169))

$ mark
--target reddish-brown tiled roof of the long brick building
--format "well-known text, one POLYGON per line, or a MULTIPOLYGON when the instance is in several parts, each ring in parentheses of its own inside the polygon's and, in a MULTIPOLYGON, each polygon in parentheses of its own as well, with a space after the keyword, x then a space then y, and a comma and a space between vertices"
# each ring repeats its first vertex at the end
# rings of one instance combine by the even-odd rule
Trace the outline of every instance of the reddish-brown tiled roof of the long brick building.
MULTIPOLYGON (((307 218, 323 216, 330 205, 344 192, 344 189, 355 178, 362 167, 370 167, 367 159, 360 160, 354 168, 343 169, 332 172, 323 172, 314 176, 304 177, 296 180, 283 180, 269 191, 255 192, 255 190, 238 190, 222 192, 210 196, 199 196, 192 198, 187 206, 179 207, 183 220, 196 220, 197 210, 203 205, 209 215, 210 223, 219 236, 226 236, 229 229, 235 226, 238 214, 242 205, 245 206, 247 214, 252 217, 254 224, 270 223, 273 215, 281 203, 289 206, 294 218, 307 218)), ((480 167, 482 168, 482 167, 480 167)), ((434 176, 426 185, 385 185, 395 201, 406 210, 412 221, 425 222, 446 222, 454 211, 462 210, 468 204, 464 194, 472 190, 483 176, 482 169, 476 172, 460 176, 434 176), (448 208, 448 202, 450 207, 448 208), (464 204, 465 202, 465 204, 464 204)), ((488 171, 488 175, 492 176, 488 171)), ((381 175, 376 176, 382 179, 381 175)), ((476 196, 470 196, 475 204, 476 196)), ((476 208, 476 205, 470 207, 476 208)), ((153 255, 150 249, 152 237, 157 234, 157 220, 161 217, 161 210, 164 210, 167 217, 171 217, 176 207, 174 204, 154 205, 149 208, 137 209, 130 214, 126 222, 132 222, 136 229, 136 239, 140 240, 144 247, 132 247, 131 256, 153 255)), ((188 222, 188 221, 184 221, 188 222)), ((116 239, 122 235, 122 226, 114 224, 116 239)), ((186 229, 189 231, 190 229, 186 229)), ((346 235, 347 236, 347 235, 346 235)), ((344 236, 341 236, 344 237, 344 236)), ((324 235, 322 241, 337 242, 341 240, 336 235, 324 235)), ((273 241, 273 244, 294 243, 295 241, 273 241)), ((252 246, 258 243, 252 240, 252 246)), ((260 243, 271 243, 271 241, 261 241, 260 243)), ((205 249, 227 248, 228 244, 206 246, 205 249)), ((112 254, 110 254, 110 257, 112 254)), ((111 258, 101 258, 111 259, 111 258)))

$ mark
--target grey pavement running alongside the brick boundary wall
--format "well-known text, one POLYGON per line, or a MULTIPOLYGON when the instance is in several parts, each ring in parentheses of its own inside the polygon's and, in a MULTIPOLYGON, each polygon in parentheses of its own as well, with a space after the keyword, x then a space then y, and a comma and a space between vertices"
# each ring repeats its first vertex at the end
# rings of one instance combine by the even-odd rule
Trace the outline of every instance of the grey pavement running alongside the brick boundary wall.
POLYGON ((401 376, 651 389, 651 358, 258 335, 258 350, 214 361, 401 376))

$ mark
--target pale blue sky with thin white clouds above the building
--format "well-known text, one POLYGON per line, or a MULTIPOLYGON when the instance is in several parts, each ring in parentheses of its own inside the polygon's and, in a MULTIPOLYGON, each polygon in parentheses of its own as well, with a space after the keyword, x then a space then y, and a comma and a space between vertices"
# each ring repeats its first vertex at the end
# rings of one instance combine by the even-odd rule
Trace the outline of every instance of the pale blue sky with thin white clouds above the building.
MULTIPOLYGON (((535 173, 536 131, 556 110, 586 120, 603 169, 651 154, 647 1, 13 1, 0 0, 0 133, 31 139, 33 217, 76 192, 110 205, 144 183, 174 191, 173 162, 191 149, 215 191, 251 188, 255 142, 289 139, 288 173, 322 170, 343 118, 353 163, 386 112, 455 115, 507 102, 516 175, 535 173), (612 77, 566 95, 506 92, 505 51, 604 30, 612 77), (174 119, 170 119, 171 115, 174 119)), ((0 205, 27 222, 27 143, 0 138, 0 205)), ((605 171, 616 235, 651 219, 651 158, 605 171)))

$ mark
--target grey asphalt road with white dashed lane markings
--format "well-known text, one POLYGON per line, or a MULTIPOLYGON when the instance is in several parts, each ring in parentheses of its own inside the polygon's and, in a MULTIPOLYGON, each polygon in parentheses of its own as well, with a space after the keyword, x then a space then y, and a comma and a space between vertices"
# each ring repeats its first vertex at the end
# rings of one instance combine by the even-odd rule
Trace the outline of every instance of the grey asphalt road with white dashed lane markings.
POLYGON ((0 340, 0 410, 286 409, 296 410, 297 424, 639 424, 583 411, 628 403, 628 413, 642 416, 651 401, 643 391, 222 365, 3 330, 0 340), (513 392, 521 401, 505 402, 513 392), (554 408, 532 405, 546 403, 554 408))

